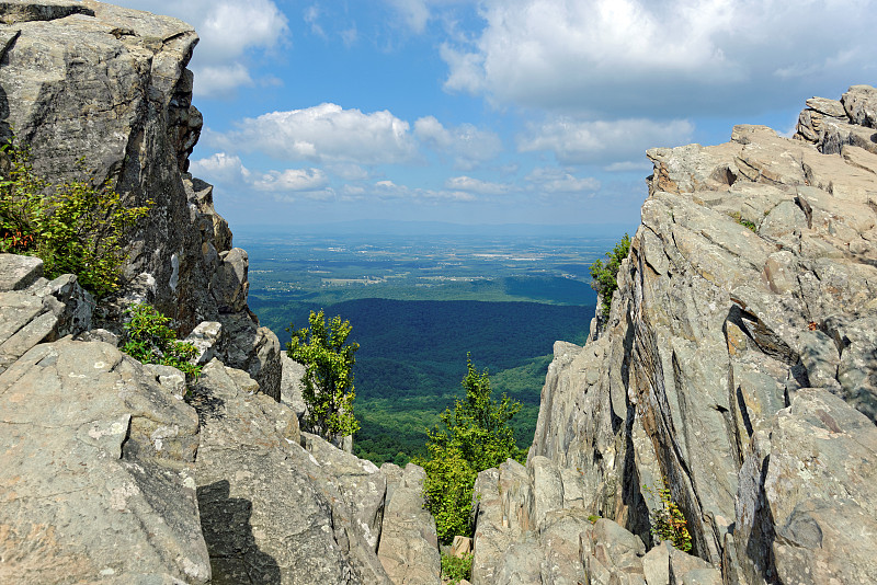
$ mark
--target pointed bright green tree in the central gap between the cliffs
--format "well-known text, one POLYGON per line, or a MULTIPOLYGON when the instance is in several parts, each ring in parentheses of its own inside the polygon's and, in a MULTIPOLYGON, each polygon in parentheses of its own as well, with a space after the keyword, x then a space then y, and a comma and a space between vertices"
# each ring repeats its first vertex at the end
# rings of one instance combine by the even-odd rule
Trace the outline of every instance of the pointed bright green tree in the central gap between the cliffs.
POLYGON ((497 467, 509 458, 522 460, 526 451, 514 441, 509 422, 521 410, 521 403, 503 394, 492 400, 487 370, 478 374, 467 359, 463 378, 466 397, 447 409, 440 425, 428 432, 428 460, 418 464, 426 471, 423 483, 425 507, 435 517, 438 538, 449 542, 456 535, 470 534, 469 516, 472 489, 479 471, 497 467))

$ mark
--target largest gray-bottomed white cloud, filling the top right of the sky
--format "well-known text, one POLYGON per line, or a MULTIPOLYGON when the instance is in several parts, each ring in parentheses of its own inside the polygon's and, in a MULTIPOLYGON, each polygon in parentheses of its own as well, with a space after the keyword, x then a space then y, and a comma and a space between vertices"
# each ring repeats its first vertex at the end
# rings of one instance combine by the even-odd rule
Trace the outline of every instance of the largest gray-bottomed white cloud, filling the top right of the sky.
POLYGON ((665 117, 834 95, 873 77, 877 0, 485 0, 445 88, 500 104, 665 117), (813 18, 842 34, 813 37, 813 18), (870 72, 870 74, 868 74, 870 72))

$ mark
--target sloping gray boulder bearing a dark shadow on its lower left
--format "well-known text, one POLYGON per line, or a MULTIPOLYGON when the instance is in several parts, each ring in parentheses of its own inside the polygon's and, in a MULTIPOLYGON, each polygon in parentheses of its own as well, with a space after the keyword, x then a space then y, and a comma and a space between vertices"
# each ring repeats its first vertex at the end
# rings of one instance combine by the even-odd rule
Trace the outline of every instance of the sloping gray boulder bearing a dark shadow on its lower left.
POLYGON ((295 413, 255 390, 246 372, 218 360, 193 390, 202 424, 198 505, 214 580, 388 584, 357 514, 329 481, 331 466, 299 446, 295 413))

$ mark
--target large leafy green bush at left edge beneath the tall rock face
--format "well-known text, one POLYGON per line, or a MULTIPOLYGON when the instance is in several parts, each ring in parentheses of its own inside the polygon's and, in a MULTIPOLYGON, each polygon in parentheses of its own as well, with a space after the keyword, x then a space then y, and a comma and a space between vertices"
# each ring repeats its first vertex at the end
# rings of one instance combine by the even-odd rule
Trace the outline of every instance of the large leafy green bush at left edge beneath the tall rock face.
MULTIPOLYGON (((43 260, 46 276, 77 275, 96 297, 118 288, 128 248, 125 231, 151 205, 126 208, 110 182, 75 179, 57 185, 38 176, 30 150, 2 148, 7 167, 0 177, 0 252, 43 260)), ((80 175, 84 176, 80 160, 80 175)))

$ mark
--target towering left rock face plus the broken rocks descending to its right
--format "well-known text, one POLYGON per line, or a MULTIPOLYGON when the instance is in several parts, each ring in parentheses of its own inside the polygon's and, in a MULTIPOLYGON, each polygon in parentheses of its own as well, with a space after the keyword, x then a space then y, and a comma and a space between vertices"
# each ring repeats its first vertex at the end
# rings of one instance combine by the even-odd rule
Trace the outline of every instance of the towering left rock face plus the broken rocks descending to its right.
POLYGON ((126 284, 99 308, 100 324, 118 333, 137 301, 183 335, 219 321, 220 357, 278 400, 280 343, 247 308, 247 253, 231 246, 213 187, 186 173, 202 128, 186 69, 195 32, 91 0, 4 2, 0 21, 0 140, 14 134, 54 182, 89 172, 126 205, 153 202, 129 234, 126 284))

